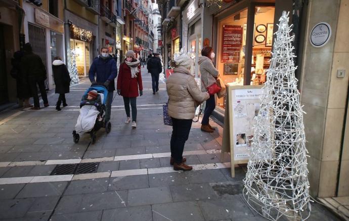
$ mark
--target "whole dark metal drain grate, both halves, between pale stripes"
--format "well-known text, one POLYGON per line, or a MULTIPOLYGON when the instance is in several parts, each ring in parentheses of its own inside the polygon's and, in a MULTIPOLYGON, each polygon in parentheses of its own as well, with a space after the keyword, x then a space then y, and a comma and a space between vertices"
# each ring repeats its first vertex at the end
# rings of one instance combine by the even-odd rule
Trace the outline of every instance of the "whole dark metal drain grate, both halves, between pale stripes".
POLYGON ((57 165, 50 175, 96 173, 99 163, 79 163, 57 165))

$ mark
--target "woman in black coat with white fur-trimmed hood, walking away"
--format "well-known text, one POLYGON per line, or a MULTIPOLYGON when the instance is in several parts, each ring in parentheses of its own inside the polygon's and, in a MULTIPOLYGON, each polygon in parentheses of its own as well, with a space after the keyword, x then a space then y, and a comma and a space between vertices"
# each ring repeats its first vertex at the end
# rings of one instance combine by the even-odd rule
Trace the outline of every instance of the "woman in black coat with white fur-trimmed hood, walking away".
POLYGON ((56 103, 56 110, 61 110, 61 103, 64 106, 68 106, 65 99, 65 94, 69 93, 70 75, 67 66, 62 61, 61 57, 55 57, 52 63, 53 79, 55 81, 56 89, 55 93, 59 94, 58 101, 56 103))

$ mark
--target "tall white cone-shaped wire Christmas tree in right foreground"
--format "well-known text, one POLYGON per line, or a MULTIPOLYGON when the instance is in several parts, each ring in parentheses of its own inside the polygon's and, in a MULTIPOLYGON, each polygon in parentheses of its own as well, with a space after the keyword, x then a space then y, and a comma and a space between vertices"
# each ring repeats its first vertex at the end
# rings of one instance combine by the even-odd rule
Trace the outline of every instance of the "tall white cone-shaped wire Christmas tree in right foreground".
POLYGON ((288 14, 280 18, 258 116, 254 119, 244 198, 260 215, 305 220, 310 196, 303 111, 294 71, 288 14))

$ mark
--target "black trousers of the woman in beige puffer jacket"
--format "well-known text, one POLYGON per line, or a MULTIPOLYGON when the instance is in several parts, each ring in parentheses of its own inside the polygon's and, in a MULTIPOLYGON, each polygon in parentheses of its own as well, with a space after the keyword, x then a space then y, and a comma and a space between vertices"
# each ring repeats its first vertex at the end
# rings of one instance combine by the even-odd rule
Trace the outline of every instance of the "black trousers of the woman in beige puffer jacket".
POLYGON ((172 118, 172 135, 170 141, 171 157, 174 162, 181 164, 184 144, 188 140, 193 120, 172 118))

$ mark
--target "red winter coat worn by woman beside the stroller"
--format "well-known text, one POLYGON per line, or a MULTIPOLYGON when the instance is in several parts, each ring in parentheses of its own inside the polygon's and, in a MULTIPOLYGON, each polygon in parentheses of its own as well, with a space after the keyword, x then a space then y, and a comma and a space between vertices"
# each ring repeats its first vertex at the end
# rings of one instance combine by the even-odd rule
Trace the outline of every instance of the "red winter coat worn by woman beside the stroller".
POLYGON ((143 90, 141 65, 138 66, 140 70, 137 78, 131 78, 131 69, 125 63, 121 63, 119 67, 119 75, 117 76, 117 90, 121 90, 121 96, 123 97, 138 97, 138 91, 143 90), (139 88, 138 88, 139 87, 139 88))

